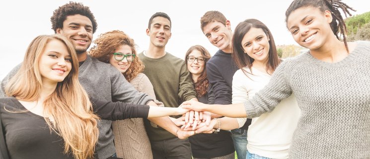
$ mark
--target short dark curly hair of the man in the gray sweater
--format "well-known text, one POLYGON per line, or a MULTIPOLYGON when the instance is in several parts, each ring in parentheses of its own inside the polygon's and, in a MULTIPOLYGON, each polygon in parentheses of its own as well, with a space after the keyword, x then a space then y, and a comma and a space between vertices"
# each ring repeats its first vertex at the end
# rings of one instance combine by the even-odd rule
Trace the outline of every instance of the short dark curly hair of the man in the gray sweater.
POLYGON ((50 18, 54 32, 57 33, 58 28, 63 28, 63 22, 67 19, 67 16, 76 14, 88 17, 92 23, 92 33, 95 33, 98 24, 96 23, 94 14, 92 14, 90 8, 88 6, 83 6, 82 3, 73 1, 70 1, 70 3, 64 4, 54 10, 53 16, 50 18))

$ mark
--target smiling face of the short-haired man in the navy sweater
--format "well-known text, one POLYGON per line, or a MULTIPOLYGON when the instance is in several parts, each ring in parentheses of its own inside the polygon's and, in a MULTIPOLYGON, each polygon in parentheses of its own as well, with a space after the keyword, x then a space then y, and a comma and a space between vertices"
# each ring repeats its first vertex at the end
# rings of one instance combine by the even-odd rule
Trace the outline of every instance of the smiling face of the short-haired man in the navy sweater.
POLYGON ((219 21, 208 23, 203 27, 203 33, 212 45, 226 53, 231 52, 232 32, 228 20, 226 20, 225 25, 219 21))

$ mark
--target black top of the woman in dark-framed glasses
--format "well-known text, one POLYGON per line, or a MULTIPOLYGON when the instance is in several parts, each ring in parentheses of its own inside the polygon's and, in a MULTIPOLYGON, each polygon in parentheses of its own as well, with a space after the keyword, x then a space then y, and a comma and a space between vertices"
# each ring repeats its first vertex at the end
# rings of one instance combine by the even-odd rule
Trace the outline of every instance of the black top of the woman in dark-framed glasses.
MULTIPOLYGON (((199 102, 214 104, 215 94, 210 86, 208 93, 198 97, 199 102)), ((195 158, 216 158, 235 151, 230 132, 221 130, 218 134, 196 134, 189 138, 191 153, 195 158)))

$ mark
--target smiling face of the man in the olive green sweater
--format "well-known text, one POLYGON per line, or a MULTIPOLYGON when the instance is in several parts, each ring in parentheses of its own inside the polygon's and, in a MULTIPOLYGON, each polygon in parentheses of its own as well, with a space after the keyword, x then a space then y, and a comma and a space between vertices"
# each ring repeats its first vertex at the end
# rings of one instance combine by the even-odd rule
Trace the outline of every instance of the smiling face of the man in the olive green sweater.
POLYGON ((150 29, 147 29, 147 35, 150 37, 150 45, 158 48, 166 46, 171 38, 171 23, 167 18, 157 16, 153 18, 150 29))

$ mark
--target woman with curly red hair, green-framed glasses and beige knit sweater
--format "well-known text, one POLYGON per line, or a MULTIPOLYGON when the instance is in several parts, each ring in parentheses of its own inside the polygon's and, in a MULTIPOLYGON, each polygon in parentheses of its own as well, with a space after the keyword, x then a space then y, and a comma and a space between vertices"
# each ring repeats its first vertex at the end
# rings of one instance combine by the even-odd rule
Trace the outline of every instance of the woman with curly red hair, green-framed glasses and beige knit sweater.
MULTIPOLYGON (((134 87, 153 99, 153 85, 142 72, 143 63, 136 57, 134 40, 122 31, 101 34, 89 54, 101 62, 117 68, 134 87)), ((124 159, 152 159, 150 142, 142 118, 112 122, 117 157, 124 159)))

